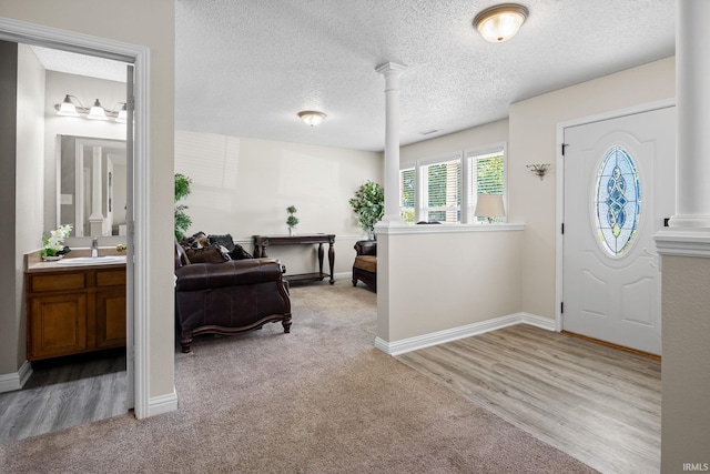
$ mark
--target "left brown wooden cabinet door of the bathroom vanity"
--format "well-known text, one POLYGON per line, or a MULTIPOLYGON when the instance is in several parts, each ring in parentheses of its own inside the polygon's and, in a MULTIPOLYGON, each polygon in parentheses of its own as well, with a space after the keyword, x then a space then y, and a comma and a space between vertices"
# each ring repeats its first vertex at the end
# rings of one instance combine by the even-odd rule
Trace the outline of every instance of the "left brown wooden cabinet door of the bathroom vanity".
POLYGON ((32 297, 28 326, 30 361, 87 350, 87 294, 32 297))

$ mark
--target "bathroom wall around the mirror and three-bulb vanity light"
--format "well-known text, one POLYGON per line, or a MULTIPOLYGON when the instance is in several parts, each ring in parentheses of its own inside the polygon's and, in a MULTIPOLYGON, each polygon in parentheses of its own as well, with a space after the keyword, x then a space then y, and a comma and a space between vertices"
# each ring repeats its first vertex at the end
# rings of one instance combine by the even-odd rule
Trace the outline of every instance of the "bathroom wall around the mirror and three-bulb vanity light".
MULTIPOLYGON (((100 99, 103 108, 110 110, 115 102, 125 102, 125 83, 57 71, 47 71, 45 75, 44 232, 48 232, 57 229, 57 135, 125 140, 125 123, 62 117, 57 114, 54 105, 61 103, 65 94, 71 94, 85 107, 91 107, 95 99, 100 99)), ((41 245, 41 240, 39 243, 41 245)))

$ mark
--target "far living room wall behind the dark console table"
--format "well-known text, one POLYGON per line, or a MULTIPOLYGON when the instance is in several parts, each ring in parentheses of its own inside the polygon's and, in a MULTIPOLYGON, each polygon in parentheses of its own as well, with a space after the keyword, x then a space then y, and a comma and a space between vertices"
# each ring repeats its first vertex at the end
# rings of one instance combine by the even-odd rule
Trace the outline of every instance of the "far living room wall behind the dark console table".
MULTIPOLYGON (((335 234, 335 273, 349 275, 353 245, 365 235, 348 200, 365 181, 382 182, 383 162, 375 152, 176 131, 175 172, 192 180, 187 234, 230 233, 251 253, 253 235, 287 234, 294 205, 296 232, 335 234)), ((268 256, 303 273, 315 270, 315 251, 273 246, 268 256)))

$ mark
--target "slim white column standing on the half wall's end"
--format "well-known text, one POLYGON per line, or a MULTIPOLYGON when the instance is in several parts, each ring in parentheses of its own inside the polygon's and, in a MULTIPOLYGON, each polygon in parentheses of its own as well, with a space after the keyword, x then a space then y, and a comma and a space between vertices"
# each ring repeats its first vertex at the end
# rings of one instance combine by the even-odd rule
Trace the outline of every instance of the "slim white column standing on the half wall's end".
POLYGON ((385 215, 383 223, 402 222, 399 215, 399 74, 406 65, 386 62, 375 70, 385 75, 385 215))

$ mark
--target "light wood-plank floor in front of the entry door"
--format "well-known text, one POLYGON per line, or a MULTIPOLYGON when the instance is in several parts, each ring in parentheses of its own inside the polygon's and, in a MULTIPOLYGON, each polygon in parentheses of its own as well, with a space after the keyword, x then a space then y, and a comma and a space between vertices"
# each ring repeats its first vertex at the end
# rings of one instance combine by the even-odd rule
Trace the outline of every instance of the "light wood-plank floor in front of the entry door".
POLYGON ((524 324, 397 359, 602 473, 660 472, 660 361, 524 324))

